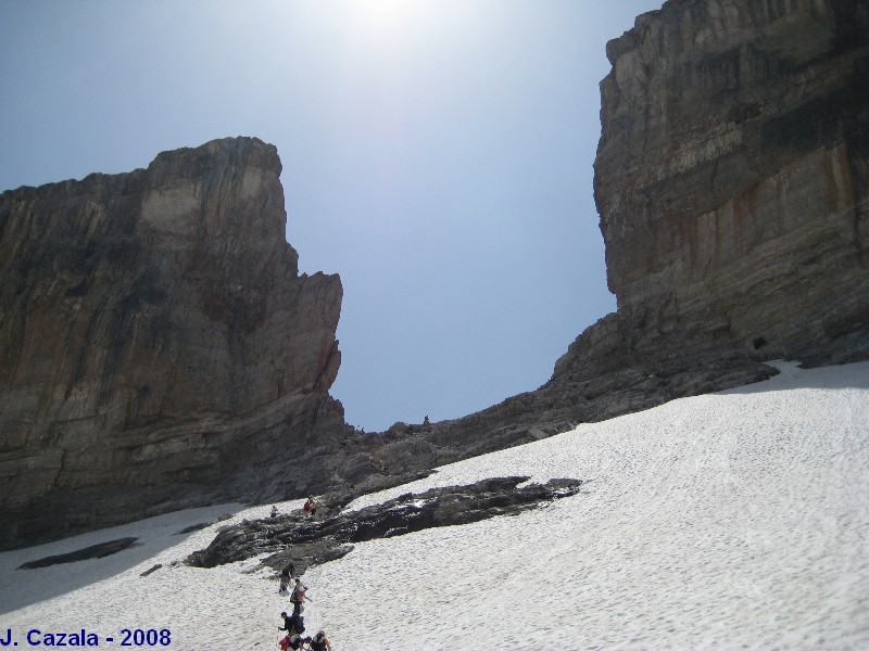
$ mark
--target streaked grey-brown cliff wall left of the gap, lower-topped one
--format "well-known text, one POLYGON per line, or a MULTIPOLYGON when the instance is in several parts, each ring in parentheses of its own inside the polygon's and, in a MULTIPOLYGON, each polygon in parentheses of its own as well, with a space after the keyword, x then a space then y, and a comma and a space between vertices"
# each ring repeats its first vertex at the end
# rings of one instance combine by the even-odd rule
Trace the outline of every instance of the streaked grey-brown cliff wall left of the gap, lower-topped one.
POLYGON ((0 195, 0 545, 235 497, 343 424, 341 283, 298 275, 280 169, 226 139, 0 195))

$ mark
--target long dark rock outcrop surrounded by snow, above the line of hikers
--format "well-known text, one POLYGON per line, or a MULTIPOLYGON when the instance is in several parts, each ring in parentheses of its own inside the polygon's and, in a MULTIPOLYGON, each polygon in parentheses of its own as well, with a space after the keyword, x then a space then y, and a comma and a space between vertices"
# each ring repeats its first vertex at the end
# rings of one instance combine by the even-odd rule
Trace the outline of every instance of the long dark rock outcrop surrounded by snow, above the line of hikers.
POLYGON ((290 514, 245 521, 221 532, 206 549, 190 554, 187 563, 214 567, 274 552, 264 564, 278 569, 291 562, 297 574, 301 574, 312 565, 349 553, 353 542, 515 515, 576 495, 582 485, 580 480, 551 480, 517 488, 528 478, 498 477, 469 486, 408 493, 380 505, 327 514, 323 519, 290 514))

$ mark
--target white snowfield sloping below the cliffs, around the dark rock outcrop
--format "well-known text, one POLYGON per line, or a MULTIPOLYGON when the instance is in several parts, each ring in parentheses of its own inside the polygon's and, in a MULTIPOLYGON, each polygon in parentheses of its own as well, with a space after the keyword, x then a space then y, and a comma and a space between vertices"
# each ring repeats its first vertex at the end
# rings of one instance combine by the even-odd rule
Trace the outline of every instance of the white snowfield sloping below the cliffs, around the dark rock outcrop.
MULTIPOLYGON (((312 570, 306 634, 325 628, 336 651, 869 649, 869 362, 778 366, 760 384, 360 498, 511 474, 588 480, 538 510, 361 544, 312 570)), ((176 651, 276 649, 291 604, 274 573, 255 559, 187 567, 226 523, 177 533, 270 507, 189 510, 0 554, 0 644, 85 629, 113 648, 134 635, 123 629, 141 640, 153 629, 176 651), (140 545, 17 569, 124 536, 140 545)))

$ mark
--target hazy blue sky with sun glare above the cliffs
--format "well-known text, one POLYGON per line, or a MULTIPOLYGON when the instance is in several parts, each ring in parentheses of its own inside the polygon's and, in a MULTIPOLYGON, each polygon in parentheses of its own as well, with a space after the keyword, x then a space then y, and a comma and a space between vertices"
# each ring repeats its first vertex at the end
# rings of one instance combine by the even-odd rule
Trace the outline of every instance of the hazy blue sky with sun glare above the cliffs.
POLYGON ((348 422, 467 416, 615 309, 597 85, 660 4, 3 0, 0 191, 272 142, 300 270, 344 286, 348 422))

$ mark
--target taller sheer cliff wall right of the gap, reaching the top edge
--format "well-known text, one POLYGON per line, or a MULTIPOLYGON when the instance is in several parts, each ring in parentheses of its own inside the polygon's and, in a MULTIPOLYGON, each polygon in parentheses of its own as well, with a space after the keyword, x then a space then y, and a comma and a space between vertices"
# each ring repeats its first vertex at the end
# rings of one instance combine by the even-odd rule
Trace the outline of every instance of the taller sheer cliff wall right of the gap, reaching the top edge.
POLYGON ((869 5, 671 0, 608 43, 595 200, 629 352, 869 352, 869 5))

